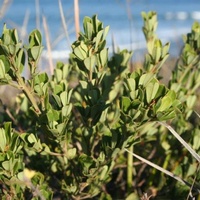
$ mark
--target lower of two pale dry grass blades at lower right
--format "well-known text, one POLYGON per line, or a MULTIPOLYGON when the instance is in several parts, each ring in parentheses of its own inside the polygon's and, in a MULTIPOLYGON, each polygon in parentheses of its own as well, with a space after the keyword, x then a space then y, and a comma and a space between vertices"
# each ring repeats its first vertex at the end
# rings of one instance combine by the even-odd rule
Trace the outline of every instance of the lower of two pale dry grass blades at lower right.
MULTIPOLYGON (((187 185, 187 186, 189 186, 189 187, 191 188, 191 184, 190 184, 190 183, 188 183, 187 181, 185 181, 185 180, 183 180, 182 178, 178 177, 177 175, 171 173, 170 171, 168 171, 168 170, 166 170, 166 169, 164 169, 164 168, 162 168, 162 167, 160 167, 160 166, 158 166, 158 165, 156 165, 156 164, 150 162, 149 160, 146 160, 145 158, 142 158, 141 156, 138 156, 137 154, 135 154, 135 153, 129 151, 129 150, 126 149, 126 148, 125 148, 125 151, 127 151, 127 152, 130 153, 130 154, 132 154, 134 157, 136 157, 137 159, 141 160, 142 162, 144 162, 144 163, 150 165, 151 167, 153 167, 153 168, 155 168, 155 169, 157 169, 157 170, 163 172, 164 174, 167 174, 168 176, 171 176, 172 178, 176 179, 176 180, 179 181, 180 183, 182 183, 182 184, 184 184, 184 185, 187 185)), ((198 189, 198 188, 194 188, 194 187, 193 187, 193 189, 194 189, 194 190, 197 190, 198 192, 200 192, 200 189, 198 189)))

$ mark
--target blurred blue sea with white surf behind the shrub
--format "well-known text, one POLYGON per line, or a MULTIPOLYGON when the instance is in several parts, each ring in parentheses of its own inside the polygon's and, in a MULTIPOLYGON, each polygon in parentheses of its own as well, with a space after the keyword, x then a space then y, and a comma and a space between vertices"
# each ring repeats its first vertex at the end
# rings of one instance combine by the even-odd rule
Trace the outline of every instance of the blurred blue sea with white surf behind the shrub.
MULTIPOLYGON (((0 0, 2 8, 3 0, 0 0)), ((46 41, 42 17, 46 18, 52 55, 55 59, 66 57, 71 51, 70 43, 75 39, 74 1, 61 0, 69 39, 64 34, 58 0, 12 0, 1 14, 1 30, 6 23, 9 28, 17 28, 19 37, 26 40, 33 29, 43 35, 44 52, 46 41)), ((178 55, 182 45, 182 35, 191 30, 194 21, 200 22, 199 0, 79 0, 80 26, 84 16, 97 14, 104 26, 109 26, 107 46, 111 49, 112 38, 120 49, 128 48, 140 52, 145 48, 142 33, 142 11, 156 11, 158 14, 157 35, 163 43, 170 42, 170 52, 178 55)), ((82 30, 82 28, 81 28, 82 30)))

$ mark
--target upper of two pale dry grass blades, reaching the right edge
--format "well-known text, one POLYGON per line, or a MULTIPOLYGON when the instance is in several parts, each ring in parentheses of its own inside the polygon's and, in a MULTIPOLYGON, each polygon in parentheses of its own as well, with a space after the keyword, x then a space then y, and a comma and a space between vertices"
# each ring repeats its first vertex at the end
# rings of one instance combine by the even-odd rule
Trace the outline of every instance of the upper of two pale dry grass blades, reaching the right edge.
POLYGON ((190 145, 187 144, 187 142, 185 142, 185 140, 183 140, 181 138, 181 136, 168 124, 166 124, 165 122, 158 122, 159 124, 165 126, 173 135, 174 137, 176 137, 176 139, 192 154, 192 156, 200 163, 200 156, 191 148, 190 145))

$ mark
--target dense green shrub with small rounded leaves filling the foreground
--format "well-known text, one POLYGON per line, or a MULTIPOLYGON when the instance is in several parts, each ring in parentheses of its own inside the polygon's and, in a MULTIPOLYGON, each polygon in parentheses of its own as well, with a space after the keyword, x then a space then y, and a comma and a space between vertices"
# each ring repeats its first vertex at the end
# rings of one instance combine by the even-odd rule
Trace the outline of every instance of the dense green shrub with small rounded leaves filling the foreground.
POLYGON ((109 27, 97 16, 84 18, 84 32, 72 44, 69 63, 58 62, 53 75, 38 71, 40 32, 33 30, 24 45, 15 29, 4 26, 0 83, 21 93, 9 110, 12 118, 5 112, 0 116, 1 199, 139 199, 147 190, 158 199, 163 194, 185 198, 190 190, 198 196, 199 163, 157 122, 170 123, 200 152, 193 112, 199 99, 200 24, 195 22, 184 36, 180 58, 164 85, 159 72, 170 45, 155 34, 156 13, 143 12, 142 17, 147 53, 143 68, 133 71, 132 52, 109 54, 109 27), (24 67, 29 67, 28 79, 24 67), (194 180, 194 189, 131 161, 125 149, 191 185, 194 180))

